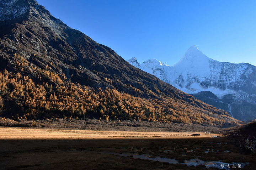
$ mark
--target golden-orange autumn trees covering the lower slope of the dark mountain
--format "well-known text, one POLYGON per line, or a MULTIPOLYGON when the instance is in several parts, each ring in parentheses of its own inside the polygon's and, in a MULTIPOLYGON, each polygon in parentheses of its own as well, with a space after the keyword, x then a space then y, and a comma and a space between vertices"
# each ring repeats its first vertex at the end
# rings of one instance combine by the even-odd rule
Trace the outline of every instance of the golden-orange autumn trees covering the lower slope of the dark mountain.
POLYGON ((74 84, 66 81, 64 74, 59 76, 48 70, 32 69, 38 74, 34 80, 7 70, 0 73, 0 117, 30 120, 96 118, 209 125, 235 122, 225 112, 197 100, 188 104, 172 95, 161 94, 158 98, 148 99, 134 97, 114 88, 103 90, 74 84), (209 112, 198 104, 208 107, 209 112))

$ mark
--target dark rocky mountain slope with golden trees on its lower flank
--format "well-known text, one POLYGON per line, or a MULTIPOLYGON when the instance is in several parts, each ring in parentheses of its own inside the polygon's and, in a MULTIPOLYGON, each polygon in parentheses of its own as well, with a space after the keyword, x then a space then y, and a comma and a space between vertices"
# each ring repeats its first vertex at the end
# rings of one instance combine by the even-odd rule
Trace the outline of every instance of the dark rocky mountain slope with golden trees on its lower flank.
POLYGON ((238 122, 131 66, 34 0, 0 6, 1 117, 238 122))

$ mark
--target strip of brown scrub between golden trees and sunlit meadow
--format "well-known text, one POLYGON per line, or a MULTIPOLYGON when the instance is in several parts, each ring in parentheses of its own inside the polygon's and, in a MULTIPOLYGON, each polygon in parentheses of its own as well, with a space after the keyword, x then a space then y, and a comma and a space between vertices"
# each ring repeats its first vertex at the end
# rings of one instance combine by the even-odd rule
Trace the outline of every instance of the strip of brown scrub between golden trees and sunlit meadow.
POLYGON ((105 131, 148 131, 148 132, 214 132, 220 129, 213 125, 197 125, 184 123, 161 123, 142 120, 97 120, 97 119, 44 119, 17 121, 0 117, 0 126, 40 129, 76 129, 105 131))

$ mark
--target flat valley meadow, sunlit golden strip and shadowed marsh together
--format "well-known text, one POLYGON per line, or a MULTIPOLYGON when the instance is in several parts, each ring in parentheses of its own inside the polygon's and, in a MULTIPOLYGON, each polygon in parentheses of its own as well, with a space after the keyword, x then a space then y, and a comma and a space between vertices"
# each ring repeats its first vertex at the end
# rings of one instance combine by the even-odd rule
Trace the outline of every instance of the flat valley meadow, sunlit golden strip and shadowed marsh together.
MULTIPOLYGON (((199 132, 194 132, 199 133, 199 132)), ((32 169, 254 169, 220 134, 0 127, 0 167, 32 169), (224 168, 221 165, 224 165, 224 168), (238 168, 241 164, 242 168, 238 168), (191 166, 192 165, 192 166, 191 166)))

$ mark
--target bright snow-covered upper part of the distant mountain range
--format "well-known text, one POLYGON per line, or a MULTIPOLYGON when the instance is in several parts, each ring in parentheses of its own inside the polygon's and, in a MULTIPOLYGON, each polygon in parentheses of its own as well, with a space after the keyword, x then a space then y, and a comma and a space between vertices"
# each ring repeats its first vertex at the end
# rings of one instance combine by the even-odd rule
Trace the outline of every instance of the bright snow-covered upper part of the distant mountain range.
POLYGON ((242 90, 254 94, 256 67, 247 67, 248 64, 245 63, 212 60, 193 45, 174 66, 170 67, 158 60, 149 59, 139 64, 138 68, 189 94, 204 90, 212 91, 214 94, 218 90, 218 95, 228 93, 225 90, 242 90))

